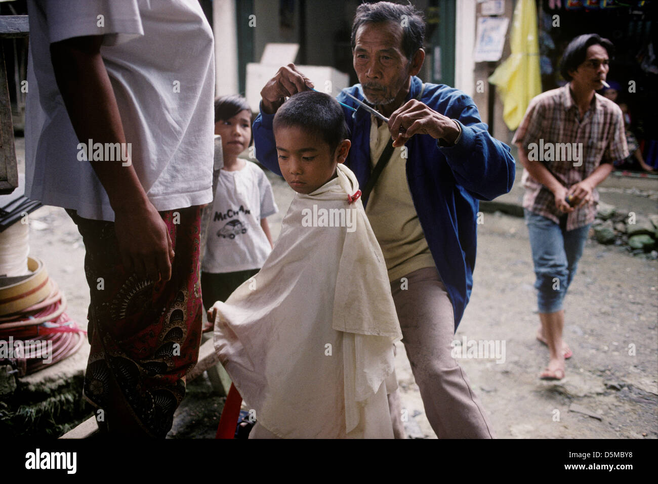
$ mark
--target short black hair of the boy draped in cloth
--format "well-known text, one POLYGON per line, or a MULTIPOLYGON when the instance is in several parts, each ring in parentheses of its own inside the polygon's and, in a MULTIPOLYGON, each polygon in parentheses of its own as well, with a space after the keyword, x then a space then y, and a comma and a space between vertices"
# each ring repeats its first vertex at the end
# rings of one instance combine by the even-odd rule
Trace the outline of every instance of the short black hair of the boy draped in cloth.
POLYGON ((297 126, 325 141, 331 153, 347 138, 345 114, 336 99, 318 91, 302 91, 276 111, 274 130, 297 126))

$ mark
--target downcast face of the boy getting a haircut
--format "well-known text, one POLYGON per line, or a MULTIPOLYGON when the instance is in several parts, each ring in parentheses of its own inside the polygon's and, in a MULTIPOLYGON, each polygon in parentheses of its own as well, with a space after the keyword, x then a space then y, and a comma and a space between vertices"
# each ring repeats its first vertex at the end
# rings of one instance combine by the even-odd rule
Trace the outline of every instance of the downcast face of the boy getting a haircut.
POLYGON ((297 193, 312 193, 336 174, 336 165, 347 158, 349 139, 343 139, 335 153, 326 141, 299 126, 274 130, 281 174, 297 193))

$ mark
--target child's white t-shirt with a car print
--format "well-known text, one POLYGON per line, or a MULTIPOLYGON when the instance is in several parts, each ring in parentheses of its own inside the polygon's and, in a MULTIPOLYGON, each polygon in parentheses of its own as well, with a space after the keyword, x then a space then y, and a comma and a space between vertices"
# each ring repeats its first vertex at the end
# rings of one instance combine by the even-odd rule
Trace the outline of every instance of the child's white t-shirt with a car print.
POLYGON ((221 274, 260 269, 272 251, 261 219, 278 212, 272 185, 257 164, 220 170, 203 272, 221 274))

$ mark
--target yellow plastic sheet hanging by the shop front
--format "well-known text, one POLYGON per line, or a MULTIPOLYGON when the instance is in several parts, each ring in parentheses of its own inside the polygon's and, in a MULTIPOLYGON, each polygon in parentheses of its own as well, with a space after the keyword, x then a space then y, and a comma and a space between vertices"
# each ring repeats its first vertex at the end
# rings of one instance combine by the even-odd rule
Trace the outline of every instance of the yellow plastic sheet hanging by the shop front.
POLYGON ((510 35, 511 55, 500 64, 489 82, 503 100, 503 120, 510 130, 519 128, 530 100, 542 93, 535 0, 519 0, 510 35))

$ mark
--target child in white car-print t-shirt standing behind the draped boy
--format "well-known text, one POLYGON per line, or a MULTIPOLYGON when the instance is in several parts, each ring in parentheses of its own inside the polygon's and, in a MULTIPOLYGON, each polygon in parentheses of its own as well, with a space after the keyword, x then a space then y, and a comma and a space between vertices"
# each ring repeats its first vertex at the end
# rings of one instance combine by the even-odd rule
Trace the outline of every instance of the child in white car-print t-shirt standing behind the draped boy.
POLYGON ((215 99, 215 134, 222 136, 224 166, 201 263, 201 295, 206 309, 215 301, 226 301, 263 266, 272 250, 266 217, 278 211, 263 170, 238 158, 251 144, 251 109, 246 99, 238 95, 215 99))

